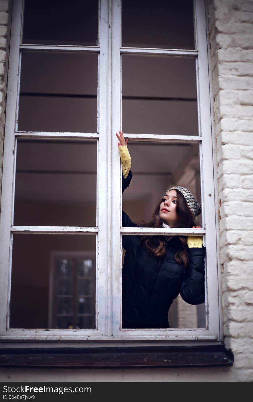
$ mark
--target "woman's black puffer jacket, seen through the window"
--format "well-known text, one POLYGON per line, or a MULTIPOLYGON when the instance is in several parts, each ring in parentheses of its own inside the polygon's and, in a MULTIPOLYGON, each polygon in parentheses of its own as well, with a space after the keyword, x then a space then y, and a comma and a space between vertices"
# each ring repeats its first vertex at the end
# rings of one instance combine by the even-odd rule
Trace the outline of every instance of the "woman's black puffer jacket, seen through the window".
MULTIPOLYGON (((132 172, 122 176, 122 190, 129 186, 132 172)), ((134 227, 122 212, 122 226, 134 227)), ((175 261, 182 248, 177 236, 166 247, 162 258, 143 248, 141 236, 122 236, 126 251, 122 271, 122 327, 169 328, 168 311, 180 295, 189 304, 204 302, 204 257, 206 248, 189 248, 189 265, 184 269, 175 261)))

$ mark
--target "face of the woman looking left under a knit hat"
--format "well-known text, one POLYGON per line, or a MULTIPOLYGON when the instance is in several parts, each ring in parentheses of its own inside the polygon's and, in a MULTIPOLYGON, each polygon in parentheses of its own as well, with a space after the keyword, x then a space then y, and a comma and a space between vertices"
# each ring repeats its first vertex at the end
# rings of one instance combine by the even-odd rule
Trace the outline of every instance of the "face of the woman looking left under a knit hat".
POLYGON ((160 205, 159 217, 171 228, 176 227, 178 216, 176 213, 177 192, 175 190, 168 191, 160 205))

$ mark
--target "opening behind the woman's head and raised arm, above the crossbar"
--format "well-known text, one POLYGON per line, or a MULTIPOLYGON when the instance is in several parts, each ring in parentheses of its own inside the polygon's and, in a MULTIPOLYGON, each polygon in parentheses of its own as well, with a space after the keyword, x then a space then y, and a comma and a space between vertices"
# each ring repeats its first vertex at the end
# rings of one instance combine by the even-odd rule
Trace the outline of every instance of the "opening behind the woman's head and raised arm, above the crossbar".
POLYGON ((186 187, 201 203, 198 144, 129 142, 128 149, 133 178, 123 194, 123 209, 133 222, 149 222, 155 205, 173 186, 186 187))

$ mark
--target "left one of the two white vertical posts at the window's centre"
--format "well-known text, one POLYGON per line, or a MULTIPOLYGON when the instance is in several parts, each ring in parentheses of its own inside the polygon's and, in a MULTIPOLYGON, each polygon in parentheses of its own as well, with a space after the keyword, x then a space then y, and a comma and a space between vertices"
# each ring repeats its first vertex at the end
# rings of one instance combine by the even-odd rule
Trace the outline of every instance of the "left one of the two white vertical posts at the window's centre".
MULTIPOLYGON (((98 164, 97 164, 97 325, 100 333, 110 335, 106 317, 111 316, 110 297, 110 80, 109 59, 110 40, 108 39, 108 2, 100 1, 100 55, 98 62, 98 164)), ((110 321, 110 320, 109 320, 110 321)))

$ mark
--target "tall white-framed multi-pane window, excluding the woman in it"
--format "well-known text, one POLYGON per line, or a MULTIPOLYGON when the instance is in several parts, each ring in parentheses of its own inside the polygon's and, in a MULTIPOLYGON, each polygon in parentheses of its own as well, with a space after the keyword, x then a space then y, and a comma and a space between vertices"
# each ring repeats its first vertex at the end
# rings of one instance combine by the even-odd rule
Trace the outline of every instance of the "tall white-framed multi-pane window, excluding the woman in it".
POLYGON ((214 195, 204 0, 14 1, 3 339, 218 341, 214 195), (120 127, 134 174, 123 199, 120 127), (121 226, 122 200, 147 220, 178 180, 201 200, 202 229, 121 226), (205 304, 176 299, 169 329, 122 328, 122 235, 196 233, 207 249, 205 304))

